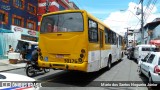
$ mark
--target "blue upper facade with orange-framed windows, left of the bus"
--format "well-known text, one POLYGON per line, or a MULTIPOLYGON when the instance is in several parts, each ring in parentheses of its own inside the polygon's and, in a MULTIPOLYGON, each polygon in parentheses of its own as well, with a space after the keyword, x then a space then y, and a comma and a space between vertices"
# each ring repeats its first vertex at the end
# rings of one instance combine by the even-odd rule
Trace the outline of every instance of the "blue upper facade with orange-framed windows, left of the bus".
POLYGON ((0 26, 11 29, 11 25, 37 30, 37 0, 1 0, 0 26))

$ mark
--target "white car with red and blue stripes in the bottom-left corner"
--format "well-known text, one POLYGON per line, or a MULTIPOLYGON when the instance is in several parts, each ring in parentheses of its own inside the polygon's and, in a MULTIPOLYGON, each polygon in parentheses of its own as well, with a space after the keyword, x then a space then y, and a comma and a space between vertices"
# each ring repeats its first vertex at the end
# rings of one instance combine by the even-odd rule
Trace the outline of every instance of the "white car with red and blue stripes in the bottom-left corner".
POLYGON ((40 83, 37 87, 33 87, 31 83, 36 80, 24 75, 13 73, 0 73, 0 90, 39 90, 40 83), (26 83, 28 86, 26 86, 26 83))

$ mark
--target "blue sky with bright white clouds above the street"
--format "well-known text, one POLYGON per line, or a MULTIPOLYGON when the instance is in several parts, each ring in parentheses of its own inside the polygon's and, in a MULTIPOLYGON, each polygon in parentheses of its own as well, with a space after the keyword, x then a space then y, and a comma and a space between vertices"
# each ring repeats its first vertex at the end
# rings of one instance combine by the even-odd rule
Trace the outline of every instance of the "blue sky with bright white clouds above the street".
MULTIPOLYGON (((126 28, 139 29, 141 14, 136 15, 137 8, 141 9, 140 0, 70 0, 80 9, 84 9, 97 17, 112 30, 124 35, 126 28)), ((144 0, 144 25, 160 18, 160 0, 144 0)))

